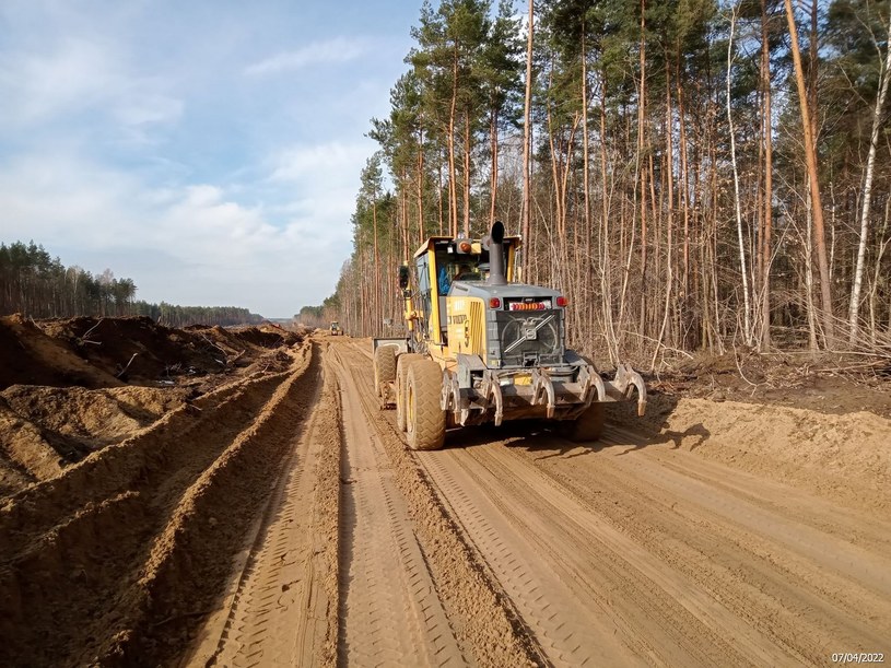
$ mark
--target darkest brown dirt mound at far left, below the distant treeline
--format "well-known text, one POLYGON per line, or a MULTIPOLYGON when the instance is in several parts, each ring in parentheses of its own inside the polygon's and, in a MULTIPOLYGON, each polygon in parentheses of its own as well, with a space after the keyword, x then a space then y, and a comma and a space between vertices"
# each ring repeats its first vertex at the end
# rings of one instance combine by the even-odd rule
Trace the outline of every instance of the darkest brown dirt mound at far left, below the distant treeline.
POLYGON ((0 388, 10 385, 116 387, 124 383, 21 315, 0 317, 0 388))

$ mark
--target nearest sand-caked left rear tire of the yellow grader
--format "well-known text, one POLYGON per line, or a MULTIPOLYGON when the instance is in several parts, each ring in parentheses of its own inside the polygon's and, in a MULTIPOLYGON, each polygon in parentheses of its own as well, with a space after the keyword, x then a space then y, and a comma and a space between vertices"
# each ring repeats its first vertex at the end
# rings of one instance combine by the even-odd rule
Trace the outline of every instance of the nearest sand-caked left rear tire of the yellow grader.
POLYGON ((406 386, 406 423, 409 447, 438 450, 445 442, 445 411, 439 408, 443 370, 433 360, 420 360, 409 367, 406 386))

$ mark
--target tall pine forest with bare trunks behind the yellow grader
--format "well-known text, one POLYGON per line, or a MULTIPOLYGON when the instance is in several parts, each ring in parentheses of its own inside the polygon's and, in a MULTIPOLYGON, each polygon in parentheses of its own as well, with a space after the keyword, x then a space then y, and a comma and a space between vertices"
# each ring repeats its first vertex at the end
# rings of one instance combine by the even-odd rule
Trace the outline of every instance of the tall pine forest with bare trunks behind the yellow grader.
POLYGON ((429 235, 521 234, 568 343, 891 355, 889 2, 425 2, 323 305, 401 321, 429 235))

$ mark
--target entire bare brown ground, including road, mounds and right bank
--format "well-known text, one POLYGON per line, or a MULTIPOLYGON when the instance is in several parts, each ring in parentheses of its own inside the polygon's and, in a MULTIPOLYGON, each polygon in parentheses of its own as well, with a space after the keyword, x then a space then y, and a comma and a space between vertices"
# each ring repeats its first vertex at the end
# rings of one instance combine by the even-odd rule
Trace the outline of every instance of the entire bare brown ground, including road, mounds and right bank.
POLYGON ((15 316, 0 336, 0 665, 891 649, 881 364, 688 360, 599 442, 513 422, 414 453, 367 341, 15 316))

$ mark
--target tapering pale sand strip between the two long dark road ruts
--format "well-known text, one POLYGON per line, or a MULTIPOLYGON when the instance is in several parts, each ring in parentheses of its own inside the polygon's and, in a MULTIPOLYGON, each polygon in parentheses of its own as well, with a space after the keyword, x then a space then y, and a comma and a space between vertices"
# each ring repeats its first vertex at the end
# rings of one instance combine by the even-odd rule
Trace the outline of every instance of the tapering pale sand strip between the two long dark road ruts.
MULTIPOLYGON (((333 356, 342 367, 339 355, 333 356)), ((341 375, 341 379, 340 661, 465 665, 394 481, 392 466, 367 429, 361 390, 352 377, 341 375)))

